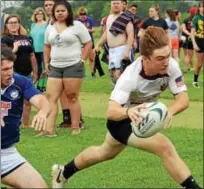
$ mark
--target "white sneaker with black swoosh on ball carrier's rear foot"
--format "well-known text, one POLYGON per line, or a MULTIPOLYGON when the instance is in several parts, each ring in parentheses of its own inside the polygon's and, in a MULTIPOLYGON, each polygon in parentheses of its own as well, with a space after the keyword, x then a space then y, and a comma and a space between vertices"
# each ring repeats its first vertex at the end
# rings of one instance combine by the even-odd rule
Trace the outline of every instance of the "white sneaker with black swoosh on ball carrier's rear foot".
POLYGON ((64 166, 55 164, 52 166, 52 188, 63 188, 67 179, 63 176, 64 166))

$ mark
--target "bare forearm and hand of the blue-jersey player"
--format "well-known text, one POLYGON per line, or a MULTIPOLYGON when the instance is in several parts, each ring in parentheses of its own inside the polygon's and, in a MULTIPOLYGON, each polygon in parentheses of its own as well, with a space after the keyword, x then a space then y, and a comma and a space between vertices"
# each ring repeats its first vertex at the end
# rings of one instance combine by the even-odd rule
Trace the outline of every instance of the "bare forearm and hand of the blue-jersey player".
POLYGON ((35 131, 45 130, 47 116, 51 110, 48 100, 39 94, 33 96, 30 99, 30 103, 38 109, 38 113, 34 116, 31 127, 35 128, 35 131))

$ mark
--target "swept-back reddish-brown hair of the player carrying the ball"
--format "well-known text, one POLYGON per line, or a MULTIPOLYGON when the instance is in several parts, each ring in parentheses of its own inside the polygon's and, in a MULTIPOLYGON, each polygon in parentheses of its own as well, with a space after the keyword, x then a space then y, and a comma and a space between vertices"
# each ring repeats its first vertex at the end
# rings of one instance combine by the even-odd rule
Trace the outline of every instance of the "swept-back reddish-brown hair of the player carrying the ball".
POLYGON ((169 45, 167 33, 160 27, 149 26, 140 39, 140 53, 151 56, 153 51, 169 45))

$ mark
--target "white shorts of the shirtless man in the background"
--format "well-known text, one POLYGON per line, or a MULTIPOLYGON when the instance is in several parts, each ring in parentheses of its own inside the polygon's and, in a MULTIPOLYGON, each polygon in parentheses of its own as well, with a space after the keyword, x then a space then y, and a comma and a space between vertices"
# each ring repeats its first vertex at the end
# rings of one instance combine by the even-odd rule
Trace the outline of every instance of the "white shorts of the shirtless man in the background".
MULTIPOLYGON (((122 45, 119 47, 109 48, 109 70, 120 70, 121 60, 124 58, 127 45, 122 45)), ((131 51, 129 58, 131 60, 131 51)))

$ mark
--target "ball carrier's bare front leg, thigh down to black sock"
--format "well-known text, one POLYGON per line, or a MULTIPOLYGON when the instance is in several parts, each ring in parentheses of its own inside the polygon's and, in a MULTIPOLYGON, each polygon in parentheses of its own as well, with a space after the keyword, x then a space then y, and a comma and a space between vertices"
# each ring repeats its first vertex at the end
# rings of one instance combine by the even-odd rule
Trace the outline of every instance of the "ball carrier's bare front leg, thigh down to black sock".
POLYGON ((161 158, 165 169, 179 184, 191 176, 191 172, 184 161, 179 157, 172 142, 163 134, 156 134, 149 138, 138 138, 131 134, 128 145, 153 153, 161 158))

